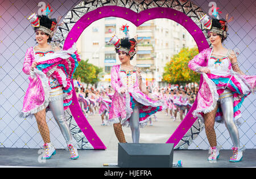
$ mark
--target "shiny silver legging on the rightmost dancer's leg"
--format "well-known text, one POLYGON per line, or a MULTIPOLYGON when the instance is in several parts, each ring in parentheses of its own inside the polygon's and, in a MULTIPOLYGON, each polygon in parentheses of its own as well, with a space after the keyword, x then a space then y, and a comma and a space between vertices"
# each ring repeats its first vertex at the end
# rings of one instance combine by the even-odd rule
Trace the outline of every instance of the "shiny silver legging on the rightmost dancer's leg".
POLYGON ((234 122, 234 107, 233 107, 233 97, 227 97, 221 105, 221 110, 223 114, 223 119, 226 128, 229 131, 230 138, 233 142, 234 147, 240 147, 239 133, 234 122))

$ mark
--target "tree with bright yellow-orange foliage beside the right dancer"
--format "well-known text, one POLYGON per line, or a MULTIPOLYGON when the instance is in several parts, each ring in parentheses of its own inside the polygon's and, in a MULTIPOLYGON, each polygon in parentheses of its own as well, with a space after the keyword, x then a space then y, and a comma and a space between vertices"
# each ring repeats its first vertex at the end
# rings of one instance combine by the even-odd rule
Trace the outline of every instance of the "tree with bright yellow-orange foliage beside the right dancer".
POLYGON ((199 82, 200 74, 188 68, 188 62, 199 53, 197 48, 183 48, 164 67, 163 80, 172 84, 199 82))

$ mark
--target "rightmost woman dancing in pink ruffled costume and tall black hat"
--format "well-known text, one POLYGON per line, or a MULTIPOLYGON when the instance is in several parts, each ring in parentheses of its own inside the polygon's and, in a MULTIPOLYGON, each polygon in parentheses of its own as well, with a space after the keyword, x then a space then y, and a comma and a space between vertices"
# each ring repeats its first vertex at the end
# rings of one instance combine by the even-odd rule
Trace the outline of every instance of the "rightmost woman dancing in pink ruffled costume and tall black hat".
POLYGON ((193 115, 204 120, 211 151, 208 160, 215 161, 219 156, 214 122, 224 121, 233 143, 229 161, 239 162, 243 155, 236 121, 241 117, 239 109, 245 97, 255 91, 256 76, 245 75, 238 66, 236 53, 222 46, 227 37, 228 15, 218 20, 205 14, 200 21, 207 24, 205 27, 209 25, 208 35, 213 48, 204 49, 188 63, 191 70, 203 74, 193 115))

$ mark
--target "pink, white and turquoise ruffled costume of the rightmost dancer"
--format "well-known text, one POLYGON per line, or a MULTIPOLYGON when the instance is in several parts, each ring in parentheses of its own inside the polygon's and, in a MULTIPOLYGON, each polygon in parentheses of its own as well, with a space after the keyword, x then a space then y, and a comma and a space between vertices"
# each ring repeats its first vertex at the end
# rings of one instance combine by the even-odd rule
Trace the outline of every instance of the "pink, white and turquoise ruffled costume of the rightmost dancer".
MULTIPOLYGON (((232 64, 226 57, 217 59, 212 57, 212 49, 208 48, 197 54, 188 63, 188 67, 197 71, 199 67, 208 66, 210 74, 203 73, 203 83, 197 94, 197 106, 193 111, 195 117, 203 120, 203 113, 212 111, 220 96, 225 98, 225 95, 233 96, 234 118, 237 120, 241 117, 240 107, 245 97, 250 92, 255 91, 256 76, 240 75, 233 71, 232 64), (225 91, 225 92, 224 92, 225 91)), ((216 114, 216 121, 222 120, 221 108, 216 114)))

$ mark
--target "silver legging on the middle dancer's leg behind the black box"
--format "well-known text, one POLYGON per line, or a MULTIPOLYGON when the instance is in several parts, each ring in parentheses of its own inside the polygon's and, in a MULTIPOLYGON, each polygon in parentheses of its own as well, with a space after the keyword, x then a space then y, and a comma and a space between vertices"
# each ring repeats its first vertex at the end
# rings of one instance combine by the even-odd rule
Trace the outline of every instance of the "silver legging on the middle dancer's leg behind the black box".
POLYGON ((130 117, 131 138, 133 143, 139 143, 139 104, 136 103, 130 117))

